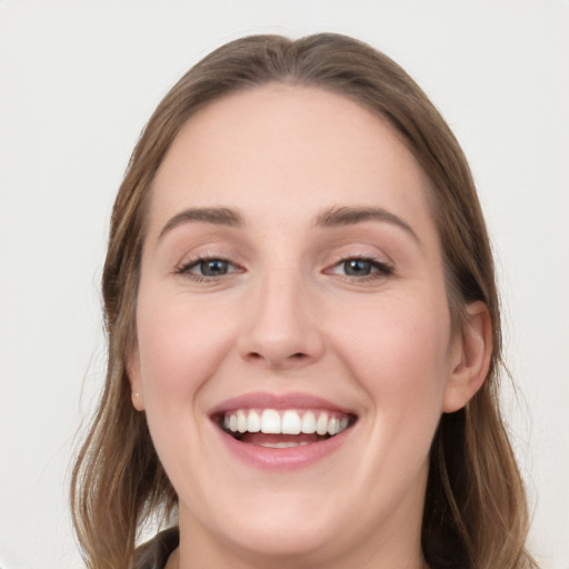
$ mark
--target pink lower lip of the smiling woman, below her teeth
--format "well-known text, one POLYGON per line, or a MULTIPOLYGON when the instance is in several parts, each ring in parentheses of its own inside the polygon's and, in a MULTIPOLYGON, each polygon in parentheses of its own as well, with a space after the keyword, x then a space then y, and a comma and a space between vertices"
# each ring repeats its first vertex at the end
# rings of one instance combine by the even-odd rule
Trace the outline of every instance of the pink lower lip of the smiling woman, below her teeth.
POLYGON ((307 468, 338 450, 349 437, 352 427, 326 440, 283 449, 241 442, 217 426, 216 429, 229 451, 247 465, 266 470, 296 470, 307 468))

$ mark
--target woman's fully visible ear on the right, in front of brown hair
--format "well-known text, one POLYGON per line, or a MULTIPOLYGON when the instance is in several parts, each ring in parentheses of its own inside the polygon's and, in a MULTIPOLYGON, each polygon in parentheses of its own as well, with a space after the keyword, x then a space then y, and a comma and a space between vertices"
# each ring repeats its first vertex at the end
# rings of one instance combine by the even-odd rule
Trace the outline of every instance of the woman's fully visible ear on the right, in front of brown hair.
POLYGON ((445 391, 443 411, 465 407, 488 376, 492 355, 492 325, 487 306, 472 302, 452 347, 450 378, 445 391))

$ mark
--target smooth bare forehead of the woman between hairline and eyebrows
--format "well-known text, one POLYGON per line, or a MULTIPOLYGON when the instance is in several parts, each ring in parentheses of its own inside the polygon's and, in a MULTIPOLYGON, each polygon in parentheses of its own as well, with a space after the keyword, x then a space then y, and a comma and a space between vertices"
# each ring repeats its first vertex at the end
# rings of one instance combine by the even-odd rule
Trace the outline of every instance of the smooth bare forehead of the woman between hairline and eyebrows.
POLYGON ((186 122, 154 179, 150 216, 216 204, 247 217, 260 203, 298 216, 351 202, 425 218, 428 188, 382 117, 333 92, 269 83, 223 97, 186 122))

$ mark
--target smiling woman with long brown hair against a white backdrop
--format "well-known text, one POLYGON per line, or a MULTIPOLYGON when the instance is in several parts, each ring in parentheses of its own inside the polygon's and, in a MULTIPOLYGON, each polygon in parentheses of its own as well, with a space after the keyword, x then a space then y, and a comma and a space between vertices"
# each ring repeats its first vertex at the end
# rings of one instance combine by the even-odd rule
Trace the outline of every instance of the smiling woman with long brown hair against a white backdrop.
POLYGON ((199 62, 134 150, 103 296, 89 567, 535 567, 476 189, 383 54, 260 36, 199 62), (153 516, 179 529, 134 551, 153 516))

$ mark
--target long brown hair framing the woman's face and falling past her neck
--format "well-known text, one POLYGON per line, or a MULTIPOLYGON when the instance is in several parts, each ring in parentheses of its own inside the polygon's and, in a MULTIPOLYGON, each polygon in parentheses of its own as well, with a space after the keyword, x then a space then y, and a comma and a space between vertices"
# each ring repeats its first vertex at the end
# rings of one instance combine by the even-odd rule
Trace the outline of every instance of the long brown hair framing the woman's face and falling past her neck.
POLYGON ((90 569, 129 567, 141 523, 176 515, 177 497, 143 413, 131 403, 126 361, 136 345, 134 311, 144 239, 146 197, 182 124, 224 94, 268 82, 317 87, 386 118, 429 176, 452 321, 486 302, 493 330, 490 371, 466 408, 443 415, 432 442, 422 548, 433 569, 536 567, 525 549, 527 500, 498 407, 500 309, 488 233, 462 151, 415 81, 369 46, 321 33, 291 41, 239 39, 217 49, 171 89, 148 122, 111 219, 102 290, 107 381, 72 475, 76 531, 90 569))

